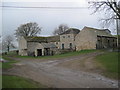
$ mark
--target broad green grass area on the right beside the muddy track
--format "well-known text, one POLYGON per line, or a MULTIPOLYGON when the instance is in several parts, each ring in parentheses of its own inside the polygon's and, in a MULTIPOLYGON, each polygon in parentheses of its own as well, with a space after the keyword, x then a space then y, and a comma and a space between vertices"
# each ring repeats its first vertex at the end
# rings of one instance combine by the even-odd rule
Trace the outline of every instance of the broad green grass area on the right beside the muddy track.
POLYGON ((118 79, 118 53, 105 52, 96 57, 96 61, 100 64, 99 68, 103 69, 103 75, 118 79))

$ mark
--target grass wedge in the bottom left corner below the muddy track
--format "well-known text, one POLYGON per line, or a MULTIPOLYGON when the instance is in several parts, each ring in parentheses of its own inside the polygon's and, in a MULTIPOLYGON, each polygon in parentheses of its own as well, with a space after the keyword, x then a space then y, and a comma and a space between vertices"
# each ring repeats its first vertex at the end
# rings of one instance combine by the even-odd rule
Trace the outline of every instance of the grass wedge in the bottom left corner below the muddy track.
POLYGON ((23 77, 3 75, 2 88, 45 88, 45 86, 23 77))

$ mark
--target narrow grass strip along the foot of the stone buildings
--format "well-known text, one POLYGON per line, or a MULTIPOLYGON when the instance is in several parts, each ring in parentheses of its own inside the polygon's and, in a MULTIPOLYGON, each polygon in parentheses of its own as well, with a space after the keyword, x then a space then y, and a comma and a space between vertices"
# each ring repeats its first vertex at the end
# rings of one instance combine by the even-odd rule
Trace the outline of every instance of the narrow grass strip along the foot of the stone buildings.
POLYGON ((54 58, 65 58, 65 57, 71 57, 71 56, 77 56, 80 54, 87 54, 87 53, 92 53, 95 52, 97 50, 81 50, 81 51, 73 51, 73 52, 68 52, 68 53, 64 53, 64 54, 57 54, 57 55, 53 55, 53 56, 39 56, 39 57, 33 57, 33 56, 16 56, 18 58, 39 58, 39 59, 54 59, 54 58))

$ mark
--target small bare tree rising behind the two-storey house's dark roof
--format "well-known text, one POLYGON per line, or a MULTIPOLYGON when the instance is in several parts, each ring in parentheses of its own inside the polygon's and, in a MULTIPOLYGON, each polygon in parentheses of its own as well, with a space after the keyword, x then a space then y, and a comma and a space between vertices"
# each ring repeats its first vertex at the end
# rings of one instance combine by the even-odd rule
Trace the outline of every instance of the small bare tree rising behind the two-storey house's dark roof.
POLYGON ((60 24, 58 28, 55 28, 53 31, 53 35, 60 35, 61 33, 67 31, 67 29, 69 29, 69 27, 66 24, 60 24))

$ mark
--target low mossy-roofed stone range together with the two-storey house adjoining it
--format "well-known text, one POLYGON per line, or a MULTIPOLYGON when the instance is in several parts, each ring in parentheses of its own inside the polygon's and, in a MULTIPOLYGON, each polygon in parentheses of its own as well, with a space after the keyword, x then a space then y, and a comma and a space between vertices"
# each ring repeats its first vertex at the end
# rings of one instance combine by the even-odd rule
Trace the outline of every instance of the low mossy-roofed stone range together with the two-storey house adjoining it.
POLYGON ((70 28, 61 35, 50 37, 20 37, 19 55, 46 56, 65 50, 75 50, 75 36, 80 30, 70 28))

